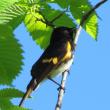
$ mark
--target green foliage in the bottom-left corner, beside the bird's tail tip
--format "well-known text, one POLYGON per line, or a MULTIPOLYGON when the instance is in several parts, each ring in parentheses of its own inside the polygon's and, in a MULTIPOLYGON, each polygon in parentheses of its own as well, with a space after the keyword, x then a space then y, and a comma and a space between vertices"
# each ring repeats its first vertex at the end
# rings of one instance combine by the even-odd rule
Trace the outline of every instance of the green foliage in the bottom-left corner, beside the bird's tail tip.
POLYGON ((0 90, 0 109, 1 110, 28 110, 25 108, 19 108, 11 103, 10 99, 22 97, 23 92, 14 89, 14 88, 6 88, 0 90))

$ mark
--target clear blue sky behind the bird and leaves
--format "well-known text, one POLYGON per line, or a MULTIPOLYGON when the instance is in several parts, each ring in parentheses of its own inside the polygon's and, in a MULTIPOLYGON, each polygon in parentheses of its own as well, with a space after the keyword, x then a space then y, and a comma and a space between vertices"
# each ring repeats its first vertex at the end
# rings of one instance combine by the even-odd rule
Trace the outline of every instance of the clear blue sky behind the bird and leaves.
MULTIPOLYGON (((96 0, 98 1, 98 0, 96 0)), ((94 41, 82 30, 75 52, 75 60, 66 84, 62 110, 110 110, 110 1, 101 6, 97 13, 99 20, 98 41, 94 41)), ((15 31, 16 37, 23 45, 24 65, 13 85, 22 90, 31 79, 30 70, 42 54, 30 37, 24 25, 15 31)), ((60 77, 55 78, 60 82, 60 77)), ((32 110, 53 110, 57 101, 57 85, 45 81, 24 107, 32 110)), ((18 105, 20 99, 13 102, 18 105)))

